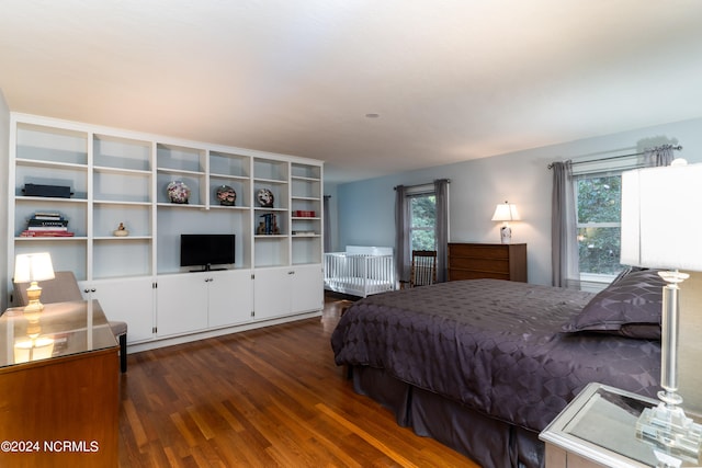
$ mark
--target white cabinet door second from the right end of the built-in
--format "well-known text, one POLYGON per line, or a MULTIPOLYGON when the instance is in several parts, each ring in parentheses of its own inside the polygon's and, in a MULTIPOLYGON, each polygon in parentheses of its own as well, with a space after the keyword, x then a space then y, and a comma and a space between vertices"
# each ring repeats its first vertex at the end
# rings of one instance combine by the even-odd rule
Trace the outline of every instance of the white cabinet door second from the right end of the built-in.
POLYGON ((258 269, 253 279, 253 319, 290 315, 293 269, 258 269))

